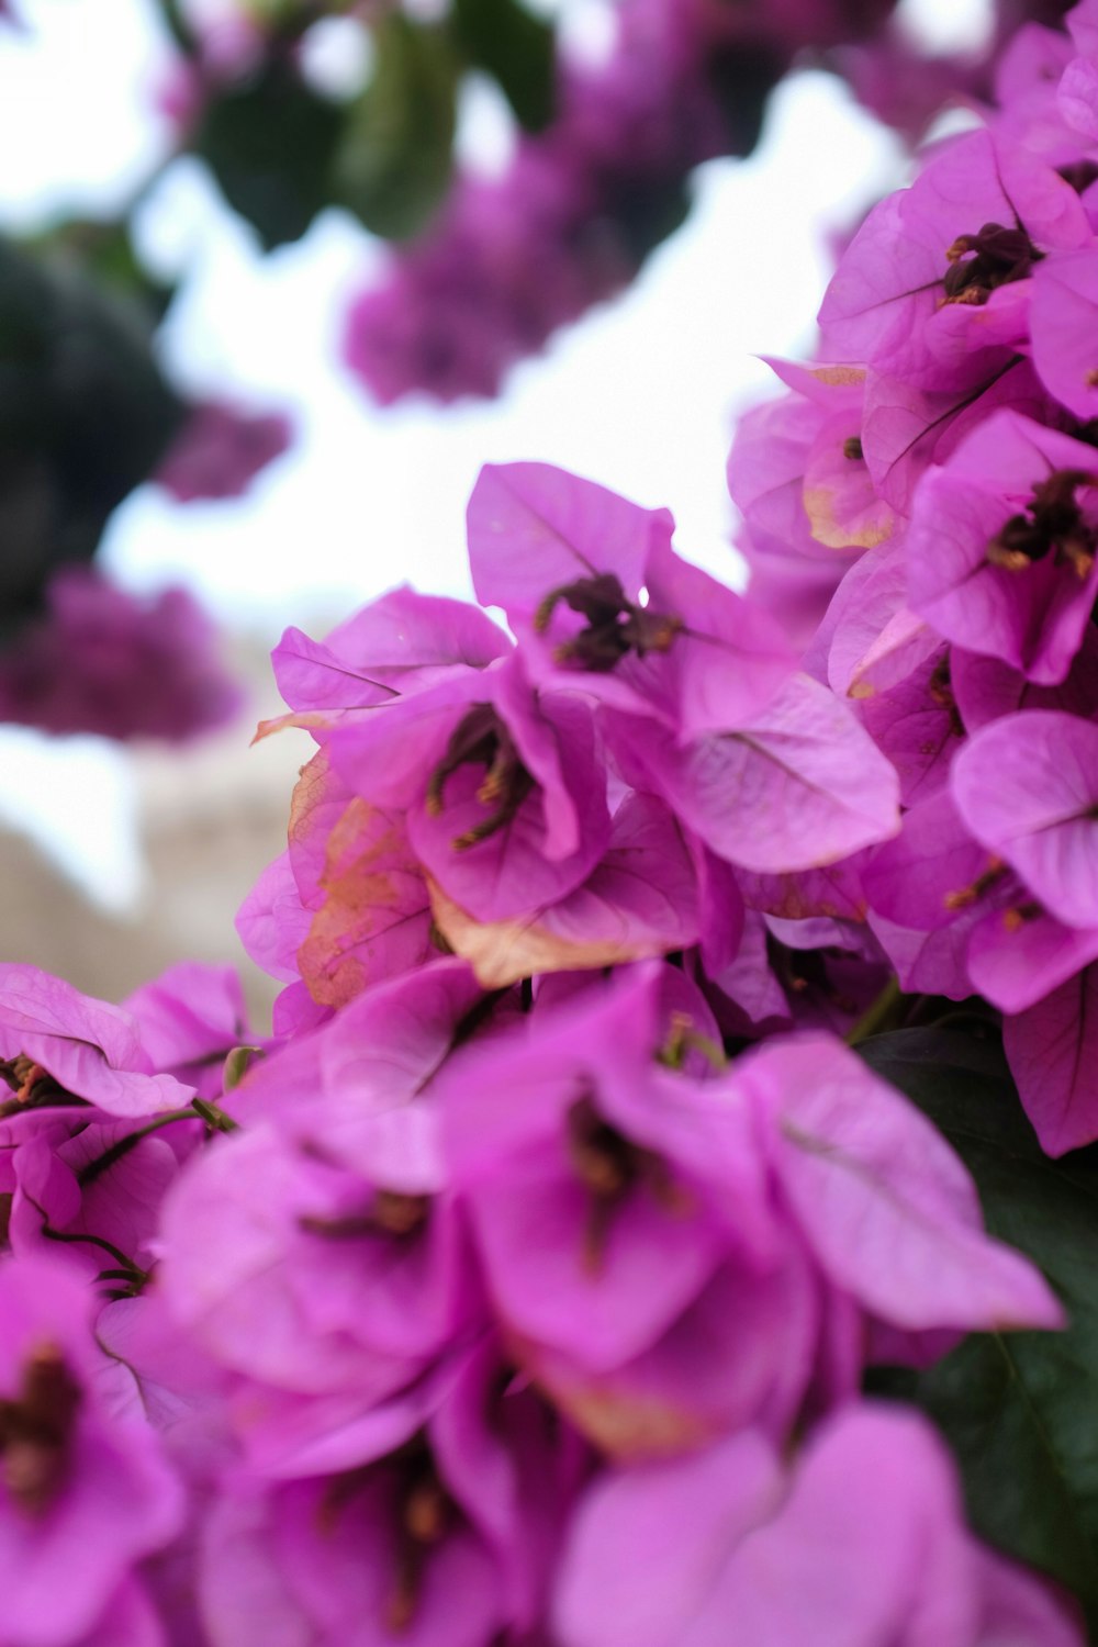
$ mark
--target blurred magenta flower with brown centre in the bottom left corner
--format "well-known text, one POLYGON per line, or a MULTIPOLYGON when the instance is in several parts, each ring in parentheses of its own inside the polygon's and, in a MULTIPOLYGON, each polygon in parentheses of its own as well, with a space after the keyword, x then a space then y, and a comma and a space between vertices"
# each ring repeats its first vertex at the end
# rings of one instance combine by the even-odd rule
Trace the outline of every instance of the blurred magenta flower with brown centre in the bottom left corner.
POLYGON ((53 1263, 0 1260, 0 1583, 18 1647, 156 1640, 123 1586, 183 1519, 153 1431, 97 1395, 89 1309, 91 1293, 53 1263))

